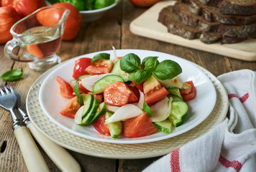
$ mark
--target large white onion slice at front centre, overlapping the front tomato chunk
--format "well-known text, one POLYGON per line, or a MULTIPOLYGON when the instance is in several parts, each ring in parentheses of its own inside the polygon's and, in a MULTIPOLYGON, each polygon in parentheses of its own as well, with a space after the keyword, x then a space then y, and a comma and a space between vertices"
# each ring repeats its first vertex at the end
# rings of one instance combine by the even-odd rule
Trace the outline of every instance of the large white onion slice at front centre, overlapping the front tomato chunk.
POLYGON ((116 112, 113 115, 111 115, 109 119, 106 119, 106 123, 114 123, 116 121, 134 118, 140 115, 141 113, 143 113, 143 111, 136 105, 123 105, 121 108, 116 110, 116 112))

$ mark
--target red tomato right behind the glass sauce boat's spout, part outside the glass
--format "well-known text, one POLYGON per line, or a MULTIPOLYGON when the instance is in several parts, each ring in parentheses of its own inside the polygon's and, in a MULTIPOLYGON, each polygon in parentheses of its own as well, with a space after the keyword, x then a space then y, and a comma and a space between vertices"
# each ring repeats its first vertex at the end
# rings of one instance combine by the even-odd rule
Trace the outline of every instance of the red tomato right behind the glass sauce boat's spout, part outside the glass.
POLYGON ((65 30, 63 34, 63 40, 72 40, 80 31, 82 23, 82 15, 79 13, 75 6, 69 3, 60 2, 53 4, 52 6, 58 7, 60 9, 69 9, 70 14, 68 15, 67 22, 65 24, 65 30))

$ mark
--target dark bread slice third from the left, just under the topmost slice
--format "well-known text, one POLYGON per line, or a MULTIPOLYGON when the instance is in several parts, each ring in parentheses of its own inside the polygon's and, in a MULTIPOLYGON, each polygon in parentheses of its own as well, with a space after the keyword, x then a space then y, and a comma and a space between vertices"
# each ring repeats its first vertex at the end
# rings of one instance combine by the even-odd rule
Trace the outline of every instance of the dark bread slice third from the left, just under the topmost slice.
POLYGON ((250 16, 221 14, 221 10, 218 7, 207 6, 201 3, 201 1, 203 0, 191 0, 190 11, 193 14, 202 16, 207 22, 219 22, 221 24, 231 25, 244 25, 256 22, 256 14, 250 16))

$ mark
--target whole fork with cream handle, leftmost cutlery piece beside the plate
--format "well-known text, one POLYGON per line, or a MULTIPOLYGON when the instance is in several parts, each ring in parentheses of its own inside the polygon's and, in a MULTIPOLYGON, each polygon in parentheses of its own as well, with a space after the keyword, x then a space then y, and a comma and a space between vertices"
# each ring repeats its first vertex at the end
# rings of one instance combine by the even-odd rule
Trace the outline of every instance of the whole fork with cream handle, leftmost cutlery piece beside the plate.
POLYGON ((44 158, 42 157, 37 145, 30 135, 24 123, 15 115, 14 108, 17 105, 17 96, 12 87, 0 87, 0 107, 9 111, 12 116, 12 128, 17 138, 19 148, 26 163, 28 171, 49 171, 44 158))

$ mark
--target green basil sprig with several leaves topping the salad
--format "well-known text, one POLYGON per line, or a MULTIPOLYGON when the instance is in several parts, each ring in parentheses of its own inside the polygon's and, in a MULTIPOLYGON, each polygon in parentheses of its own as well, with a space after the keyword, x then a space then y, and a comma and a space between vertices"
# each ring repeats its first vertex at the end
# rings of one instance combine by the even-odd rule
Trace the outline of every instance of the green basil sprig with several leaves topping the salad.
POLYGON ((180 65, 170 59, 158 62, 158 57, 146 57, 140 61, 140 57, 130 53, 122 57, 120 61, 121 70, 129 73, 129 80, 134 80, 138 85, 154 75, 159 80, 170 80, 182 72, 180 65), (142 68, 141 68, 142 65, 142 68))

